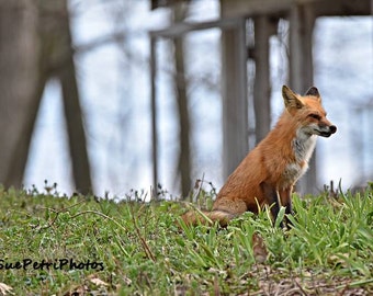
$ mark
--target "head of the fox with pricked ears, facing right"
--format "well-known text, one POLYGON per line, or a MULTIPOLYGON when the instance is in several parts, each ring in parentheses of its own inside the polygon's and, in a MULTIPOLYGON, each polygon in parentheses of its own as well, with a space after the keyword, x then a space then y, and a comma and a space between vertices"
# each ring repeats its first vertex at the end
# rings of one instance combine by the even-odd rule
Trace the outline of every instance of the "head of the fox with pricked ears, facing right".
POLYGON ((323 105, 317 88, 308 89, 304 96, 294 93, 289 87, 282 87, 285 109, 292 115, 299 130, 306 135, 330 137, 337 127, 330 123, 323 105))

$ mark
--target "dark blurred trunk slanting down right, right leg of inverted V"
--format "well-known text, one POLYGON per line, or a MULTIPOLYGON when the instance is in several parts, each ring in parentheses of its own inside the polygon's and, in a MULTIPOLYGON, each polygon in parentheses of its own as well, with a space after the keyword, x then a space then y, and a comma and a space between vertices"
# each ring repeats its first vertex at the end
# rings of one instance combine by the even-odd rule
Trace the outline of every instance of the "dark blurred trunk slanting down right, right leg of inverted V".
POLYGON ((61 84, 74 181, 76 190, 87 194, 92 192, 92 183, 74 64, 67 0, 44 0, 38 3, 43 16, 41 38, 45 71, 48 77, 58 78, 61 84))

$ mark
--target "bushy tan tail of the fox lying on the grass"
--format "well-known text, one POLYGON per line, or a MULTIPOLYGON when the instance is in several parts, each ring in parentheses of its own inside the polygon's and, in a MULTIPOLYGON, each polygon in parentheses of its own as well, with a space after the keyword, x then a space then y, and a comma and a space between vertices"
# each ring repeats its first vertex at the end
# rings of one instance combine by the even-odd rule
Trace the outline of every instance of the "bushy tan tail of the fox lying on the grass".
POLYGON ((215 221, 218 221, 222 227, 226 227, 234 217, 236 215, 224 210, 207 212, 197 209, 187 212, 181 216, 187 225, 214 225, 215 221))

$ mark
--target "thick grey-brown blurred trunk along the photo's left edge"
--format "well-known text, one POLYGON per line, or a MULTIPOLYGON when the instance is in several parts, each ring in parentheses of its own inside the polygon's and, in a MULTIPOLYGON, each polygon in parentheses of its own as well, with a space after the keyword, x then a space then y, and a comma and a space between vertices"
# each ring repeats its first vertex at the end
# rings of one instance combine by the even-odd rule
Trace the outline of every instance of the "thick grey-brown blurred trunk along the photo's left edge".
POLYGON ((22 185, 32 129, 44 89, 34 1, 0 2, 0 183, 22 185))

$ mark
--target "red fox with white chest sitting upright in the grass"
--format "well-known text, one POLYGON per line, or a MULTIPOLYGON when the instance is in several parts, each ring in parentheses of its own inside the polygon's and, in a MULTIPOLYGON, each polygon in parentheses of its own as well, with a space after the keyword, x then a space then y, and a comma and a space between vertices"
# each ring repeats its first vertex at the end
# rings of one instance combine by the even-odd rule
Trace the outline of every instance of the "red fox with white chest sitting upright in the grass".
MULTIPOLYGON (((295 182, 308 168, 317 136, 329 137, 337 127, 326 118, 321 96, 312 87, 304 96, 282 87, 285 110, 274 128, 253 148, 229 175, 219 191, 212 212, 202 212, 221 226, 258 206, 271 206, 273 219, 280 207, 292 214, 291 194, 295 182)), ((203 223, 203 215, 188 212, 187 224, 203 223)))

